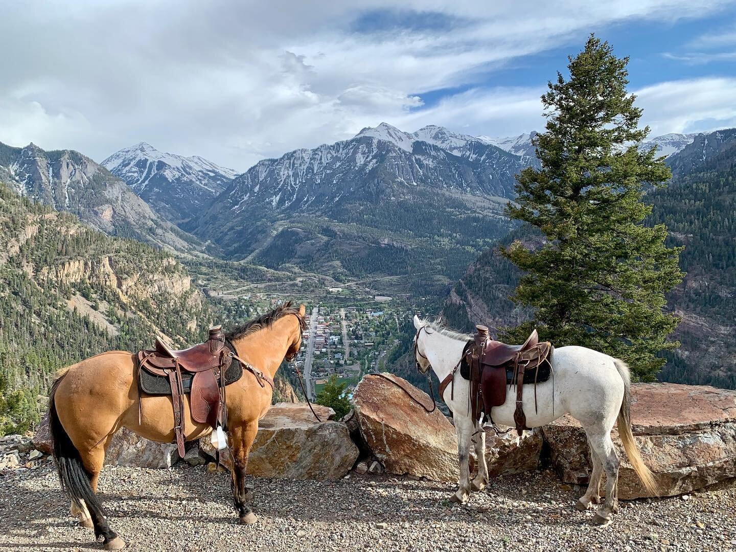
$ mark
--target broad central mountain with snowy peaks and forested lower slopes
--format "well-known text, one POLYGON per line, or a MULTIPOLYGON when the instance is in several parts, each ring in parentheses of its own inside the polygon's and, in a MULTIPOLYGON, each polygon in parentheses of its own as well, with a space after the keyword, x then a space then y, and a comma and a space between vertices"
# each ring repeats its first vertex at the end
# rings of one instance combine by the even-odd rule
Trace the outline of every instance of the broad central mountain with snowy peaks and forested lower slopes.
POLYGON ((283 247, 263 258, 271 241, 306 240, 310 245, 302 252, 322 244, 325 254, 339 257, 344 241, 325 249, 338 231, 326 236, 314 225, 305 227, 305 216, 326 220, 319 222, 325 227, 372 227, 360 230, 367 243, 378 239, 380 227, 385 235, 400 232, 395 239, 406 247, 406 240, 420 235, 459 246, 498 236, 509 224, 501 212, 514 197, 514 175, 523 168, 517 156, 470 135, 435 126, 405 132, 382 123, 349 140, 261 160, 185 228, 233 255, 255 255, 261 248, 258 258, 267 266, 274 257, 286 261, 283 247), (284 225, 297 225, 300 233, 292 228, 289 238, 283 232, 274 236, 284 225), (269 236, 266 245, 264 236, 269 236))

